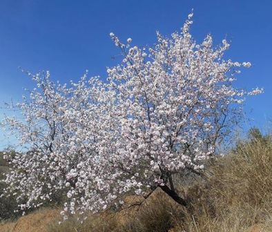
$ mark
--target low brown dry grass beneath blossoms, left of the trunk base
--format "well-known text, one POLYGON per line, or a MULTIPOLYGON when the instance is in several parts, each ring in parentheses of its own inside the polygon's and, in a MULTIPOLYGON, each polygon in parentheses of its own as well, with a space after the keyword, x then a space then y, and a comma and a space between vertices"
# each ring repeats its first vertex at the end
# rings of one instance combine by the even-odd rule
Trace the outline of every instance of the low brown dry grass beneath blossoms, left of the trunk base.
POLYGON ((89 215, 82 224, 75 216, 61 225, 50 224, 48 232, 166 232, 183 217, 182 206, 162 191, 156 191, 140 208, 135 206, 117 213, 89 215))

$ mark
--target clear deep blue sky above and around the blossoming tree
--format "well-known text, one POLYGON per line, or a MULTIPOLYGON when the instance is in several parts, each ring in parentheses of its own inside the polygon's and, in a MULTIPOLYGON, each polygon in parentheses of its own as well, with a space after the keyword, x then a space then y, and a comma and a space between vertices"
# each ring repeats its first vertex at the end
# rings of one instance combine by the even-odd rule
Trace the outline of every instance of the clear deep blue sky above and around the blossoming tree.
MULTIPOLYGON (((17 101, 32 82, 31 72, 50 70, 61 82, 77 80, 86 69, 106 76, 106 66, 118 55, 109 33, 133 38, 144 46, 155 43, 155 31, 179 30, 194 9, 193 36, 211 33, 215 43, 231 40, 226 57, 251 61, 236 86, 264 87, 263 95, 246 102, 250 125, 264 128, 272 117, 272 1, 271 0, 115 0, 115 1, 0 1, 0 105, 17 101)), ((0 110, 3 113, 3 110, 0 110)), ((1 118, 1 116, 0 116, 1 118)), ((0 133, 0 149, 8 140, 0 133)))

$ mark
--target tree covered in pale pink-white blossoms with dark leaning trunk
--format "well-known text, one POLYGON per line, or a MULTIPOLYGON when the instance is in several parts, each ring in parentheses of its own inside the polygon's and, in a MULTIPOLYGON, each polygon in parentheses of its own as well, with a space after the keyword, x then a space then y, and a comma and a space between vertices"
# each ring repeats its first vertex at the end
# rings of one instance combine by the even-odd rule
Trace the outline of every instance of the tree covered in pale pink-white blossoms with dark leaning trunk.
MULTIPOLYGON (((157 34, 153 48, 124 44, 121 64, 99 77, 55 84, 49 72, 31 75, 37 83, 18 104, 23 120, 3 122, 28 152, 18 153, 6 175, 6 195, 17 195, 21 210, 52 200, 58 191, 68 202, 64 217, 79 211, 101 211, 119 197, 145 198, 157 188, 177 203, 173 175, 184 170, 201 175, 203 160, 229 131, 246 95, 232 82, 238 67, 224 60, 226 40, 214 48, 211 35, 197 44, 189 32, 189 14, 181 32, 157 34)), ((7 157, 8 158, 8 157, 7 157)))

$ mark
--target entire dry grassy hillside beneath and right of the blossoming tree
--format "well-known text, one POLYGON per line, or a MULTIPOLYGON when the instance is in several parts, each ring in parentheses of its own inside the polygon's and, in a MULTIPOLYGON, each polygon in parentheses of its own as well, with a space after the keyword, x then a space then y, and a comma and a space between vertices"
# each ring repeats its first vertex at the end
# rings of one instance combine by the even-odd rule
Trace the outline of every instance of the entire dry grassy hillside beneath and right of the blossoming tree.
POLYGON ((211 160, 206 179, 179 186, 190 197, 188 209, 157 191, 139 209, 90 215, 83 224, 74 217, 50 224, 48 232, 272 231, 272 139, 254 131, 231 153, 211 160))

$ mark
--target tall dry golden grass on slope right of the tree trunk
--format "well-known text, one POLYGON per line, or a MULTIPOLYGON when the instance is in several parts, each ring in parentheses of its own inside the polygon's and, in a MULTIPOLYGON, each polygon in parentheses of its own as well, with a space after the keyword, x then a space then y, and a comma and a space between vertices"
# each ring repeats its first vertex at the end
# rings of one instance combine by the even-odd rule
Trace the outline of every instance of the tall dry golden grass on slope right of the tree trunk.
MULTIPOLYGON (((253 139, 211 165, 212 177, 188 189, 186 232, 272 231, 272 142, 253 139)), ((173 230, 182 231, 182 230, 173 230)))

